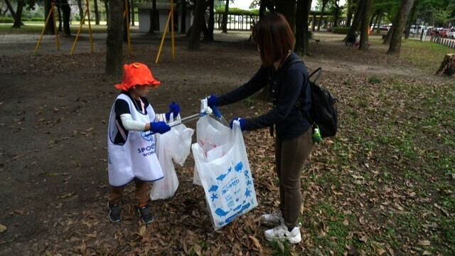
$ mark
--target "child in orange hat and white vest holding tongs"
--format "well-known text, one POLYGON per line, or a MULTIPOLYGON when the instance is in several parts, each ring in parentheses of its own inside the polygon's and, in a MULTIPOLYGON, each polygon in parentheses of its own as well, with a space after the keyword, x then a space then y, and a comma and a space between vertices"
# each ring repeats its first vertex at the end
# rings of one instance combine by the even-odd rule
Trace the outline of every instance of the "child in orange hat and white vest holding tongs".
MULTIPOLYGON (((149 224, 154 220, 147 204, 149 185, 146 182, 163 178, 163 171, 156 158, 153 134, 164 134, 171 129, 166 122, 158 121, 146 99, 151 87, 159 84, 146 65, 132 63, 124 65, 122 83, 115 85, 122 92, 112 105, 107 134, 107 166, 112 186, 107 206, 109 220, 114 223, 122 220, 119 203, 130 181, 136 184, 134 198, 139 202, 137 208, 142 221, 149 224)), ((164 114, 166 119, 171 112, 176 117, 180 107, 172 102, 169 110, 164 114)))

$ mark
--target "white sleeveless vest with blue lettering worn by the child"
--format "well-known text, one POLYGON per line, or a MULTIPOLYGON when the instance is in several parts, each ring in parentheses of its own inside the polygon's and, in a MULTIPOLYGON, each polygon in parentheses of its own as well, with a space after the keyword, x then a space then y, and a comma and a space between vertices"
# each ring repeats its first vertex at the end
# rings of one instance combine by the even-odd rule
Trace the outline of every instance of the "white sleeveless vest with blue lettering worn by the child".
MULTIPOLYGON (((155 112, 149 105, 147 114, 137 111, 134 102, 124 94, 117 100, 128 102, 129 110, 135 121, 151 122, 155 120, 155 112)), ((112 186, 123 186, 139 178, 141 181, 156 181, 163 178, 163 171, 155 154, 155 136, 150 131, 129 131, 123 145, 114 144, 119 129, 115 119, 115 103, 112 105, 107 133, 107 170, 109 183, 112 186)))

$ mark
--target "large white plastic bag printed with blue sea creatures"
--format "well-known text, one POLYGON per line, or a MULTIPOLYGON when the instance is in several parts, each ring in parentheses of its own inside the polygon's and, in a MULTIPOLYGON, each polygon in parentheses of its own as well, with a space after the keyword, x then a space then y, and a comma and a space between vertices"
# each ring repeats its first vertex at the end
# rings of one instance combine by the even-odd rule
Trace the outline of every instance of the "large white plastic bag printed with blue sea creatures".
MULTIPOLYGON (((198 124, 199 122, 210 124, 217 121, 205 116, 199 119, 198 124)), ((235 122, 233 129, 226 128, 223 132, 215 129, 213 131, 220 137, 232 138, 230 142, 220 146, 208 146, 206 143, 195 143, 191 146, 215 230, 257 206, 255 186, 240 124, 235 122)), ((203 135, 209 137, 212 134, 203 135)))

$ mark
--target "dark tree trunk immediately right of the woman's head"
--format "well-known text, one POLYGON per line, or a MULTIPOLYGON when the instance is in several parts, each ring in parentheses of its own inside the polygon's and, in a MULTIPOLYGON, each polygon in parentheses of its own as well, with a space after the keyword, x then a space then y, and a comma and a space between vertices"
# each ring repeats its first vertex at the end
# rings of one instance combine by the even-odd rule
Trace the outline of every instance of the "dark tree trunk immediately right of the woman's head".
POLYGON ((296 45, 294 51, 300 55, 310 55, 308 17, 311 0, 297 0, 296 5, 296 45))

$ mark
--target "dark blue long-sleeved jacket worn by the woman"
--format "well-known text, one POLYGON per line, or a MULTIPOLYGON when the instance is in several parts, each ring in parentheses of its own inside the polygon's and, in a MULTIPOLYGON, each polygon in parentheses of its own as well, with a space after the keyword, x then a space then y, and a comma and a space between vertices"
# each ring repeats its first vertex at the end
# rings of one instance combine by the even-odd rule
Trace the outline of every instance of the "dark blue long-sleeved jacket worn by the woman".
POLYGON ((304 105, 304 110, 308 111, 311 107, 311 88, 303 62, 287 65, 295 59, 299 59, 299 56, 292 52, 278 70, 262 66, 244 85, 218 97, 219 105, 228 105, 245 99, 267 85, 272 95, 272 110, 259 117, 246 119, 245 129, 261 129, 275 125, 277 137, 284 140, 294 139, 304 134, 310 124, 294 104, 303 90, 304 102, 301 103, 304 105))

